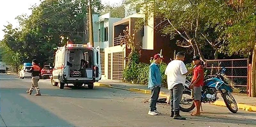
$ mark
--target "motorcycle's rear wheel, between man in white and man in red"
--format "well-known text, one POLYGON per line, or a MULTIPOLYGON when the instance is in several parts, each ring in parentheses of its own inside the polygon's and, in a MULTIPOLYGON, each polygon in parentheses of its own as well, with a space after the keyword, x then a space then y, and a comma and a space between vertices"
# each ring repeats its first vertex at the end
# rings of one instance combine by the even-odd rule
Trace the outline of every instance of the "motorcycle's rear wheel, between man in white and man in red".
POLYGON ((180 110, 183 112, 189 112, 195 108, 193 100, 190 98, 191 92, 183 91, 180 100, 180 110))

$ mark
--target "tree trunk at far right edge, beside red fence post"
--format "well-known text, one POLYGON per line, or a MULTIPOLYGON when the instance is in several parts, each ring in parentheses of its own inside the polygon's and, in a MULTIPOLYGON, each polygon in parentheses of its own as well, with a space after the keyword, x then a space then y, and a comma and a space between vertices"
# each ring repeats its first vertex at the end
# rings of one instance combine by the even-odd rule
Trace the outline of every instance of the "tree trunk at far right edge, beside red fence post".
MULTIPOLYGON (((254 41, 254 45, 255 45, 255 41, 254 41)), ((251 89, 251 93, 252 93, 252 97, 256 97, 256 45, 254 46, 254 49, 252 50, 252 78, 251 78, 251 82, 252 82, 252 89, 251 89)))

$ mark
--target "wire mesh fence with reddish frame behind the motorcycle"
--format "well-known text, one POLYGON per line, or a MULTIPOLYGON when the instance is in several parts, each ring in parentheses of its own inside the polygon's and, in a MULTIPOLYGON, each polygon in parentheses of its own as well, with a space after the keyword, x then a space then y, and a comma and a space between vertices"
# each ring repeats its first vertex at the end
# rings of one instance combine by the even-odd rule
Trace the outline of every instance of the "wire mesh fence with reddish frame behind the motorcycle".
POLYGON ((235 87, 246 87, 248 82, 248 59, 207 60, 207 75, 213 76, 221 67, 226 68, 225 77, 235 87))

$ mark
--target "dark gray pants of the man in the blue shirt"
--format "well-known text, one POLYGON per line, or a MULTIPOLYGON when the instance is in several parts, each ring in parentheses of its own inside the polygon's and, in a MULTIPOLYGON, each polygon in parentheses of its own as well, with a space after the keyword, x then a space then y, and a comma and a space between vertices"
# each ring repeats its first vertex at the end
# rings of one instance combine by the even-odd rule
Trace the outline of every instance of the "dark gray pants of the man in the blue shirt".
POLYGON ((161 87, 151 87, 151 97, 150 97, 150 103, 149 103, 149 110, 154 111, 156 110, 156 101, 159 97, 161 87))

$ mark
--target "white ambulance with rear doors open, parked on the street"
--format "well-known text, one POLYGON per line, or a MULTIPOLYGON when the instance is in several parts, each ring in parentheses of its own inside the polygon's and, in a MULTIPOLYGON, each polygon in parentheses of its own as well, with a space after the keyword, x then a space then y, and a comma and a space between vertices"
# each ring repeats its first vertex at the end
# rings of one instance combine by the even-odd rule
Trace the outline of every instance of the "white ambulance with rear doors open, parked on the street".
POLYGON ((93 82, 101 79, 100 47, 89 44, 67 44, 59 47, 54 58, 54 68, 51 82, 59 84, 63 89, 65 84, 72 83, 77 87, 87 84, 93 88, 93 82))

